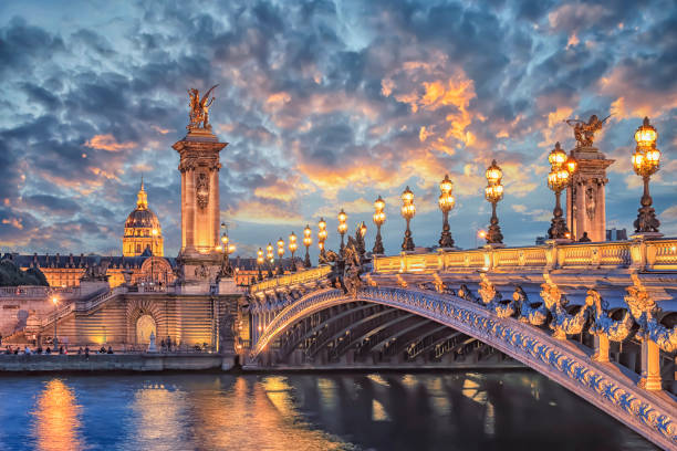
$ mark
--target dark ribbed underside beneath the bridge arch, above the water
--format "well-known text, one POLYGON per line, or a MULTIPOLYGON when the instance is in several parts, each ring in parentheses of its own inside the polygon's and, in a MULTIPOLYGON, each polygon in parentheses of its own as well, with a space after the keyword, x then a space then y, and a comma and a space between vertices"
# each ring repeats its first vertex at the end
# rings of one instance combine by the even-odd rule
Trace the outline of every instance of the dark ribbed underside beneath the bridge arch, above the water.
POLYGON ((523 367, 435 319, 360 300, 309 313, 284 327, 265 366, 523 367))

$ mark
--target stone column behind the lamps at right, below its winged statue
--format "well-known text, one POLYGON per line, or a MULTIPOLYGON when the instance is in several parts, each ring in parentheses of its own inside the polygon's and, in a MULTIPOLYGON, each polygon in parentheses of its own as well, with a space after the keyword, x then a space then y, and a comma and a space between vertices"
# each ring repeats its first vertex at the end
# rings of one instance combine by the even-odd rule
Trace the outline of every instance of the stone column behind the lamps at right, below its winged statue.
POLYGON ((591 241, 606 241, 606 200, 604 187, 606 168, 614 162, 596 147, 571 150, 579 169, 566 189, 566 221, 572 239, 579 241, 584 232, 591 241))

